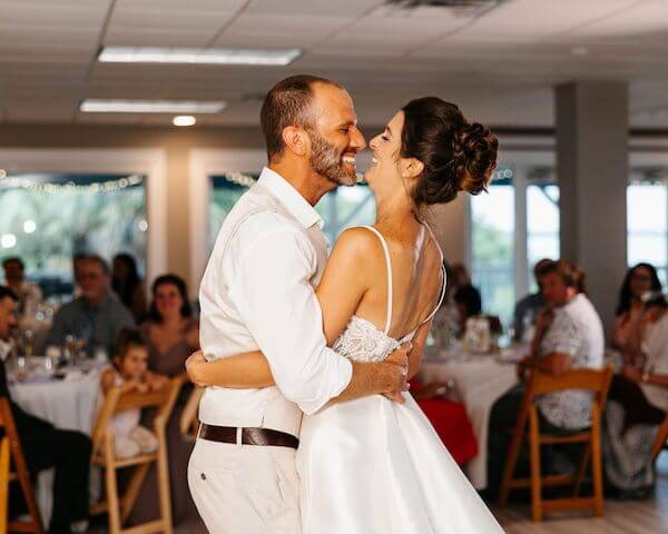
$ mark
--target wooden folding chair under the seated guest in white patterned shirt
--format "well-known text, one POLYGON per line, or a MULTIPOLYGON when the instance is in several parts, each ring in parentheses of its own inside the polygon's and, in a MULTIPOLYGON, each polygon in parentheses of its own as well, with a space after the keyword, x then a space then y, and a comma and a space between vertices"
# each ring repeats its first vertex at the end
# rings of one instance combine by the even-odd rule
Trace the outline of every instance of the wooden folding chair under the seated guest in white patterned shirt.
POLYGON ((573 369, 560 376, 551 376, 540 372, 532 372, 527 380, 522 407, 513 431, 513 437, 505 462, 503 482, 499 503, 504 506, 508 494, 512 488, 529 487, 531 490, 531 518, 541 521, 544 512, 560 510, 591 508, 595 515, 603 514, 603 482, 601 463, 601 414, 606 404, 608 388, 612 378, 612 368, 601 370, 573 369), (563 389, 586 389, 593 394, 591 403, 591 427, 583 432, 564 433, 563 435, 541 434, 539 427, 536 397, 563 389), (529 425, 528 433, 527 425, 529 425), (515 464, 520 455, 524 438, 529 442, 531 474, 529 478, 513 479, 515 464), (551 444, 582 443, 584 449, 580 464, 574 474, 541 476, 540 446, 551 444), (591 457, 593 495, 579 497, 580 484, 587 465, 591 457), (573 484, 571 498, 542 497, 542 487, 553 487, 573 484))

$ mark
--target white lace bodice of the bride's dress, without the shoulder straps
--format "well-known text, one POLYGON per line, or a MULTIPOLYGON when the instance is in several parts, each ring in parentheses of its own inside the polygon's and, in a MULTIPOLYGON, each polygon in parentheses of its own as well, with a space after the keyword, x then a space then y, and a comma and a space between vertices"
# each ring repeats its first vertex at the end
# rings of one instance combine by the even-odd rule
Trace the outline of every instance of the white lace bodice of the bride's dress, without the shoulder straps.
POLYGON ((413 336, 414 334, 410 334, 404 339, 396 340, 373 323, 353 315, 332 348, 353 362, 383 362, 402 343, 413 339, 413 336))

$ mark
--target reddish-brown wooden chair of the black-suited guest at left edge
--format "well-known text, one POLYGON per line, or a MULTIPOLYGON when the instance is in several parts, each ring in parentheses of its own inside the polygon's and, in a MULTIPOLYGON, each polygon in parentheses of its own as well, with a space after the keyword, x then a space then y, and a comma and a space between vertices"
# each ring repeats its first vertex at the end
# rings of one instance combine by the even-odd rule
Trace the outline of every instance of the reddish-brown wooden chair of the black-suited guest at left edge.
POLYGON ((45 532, 30 474, 26 466, 26 459, 21 452, 21 441, 17 433, 17 427, 11 415, 9 400, 0 397, 0 534, 7 532, 35 532, 42 534, 45 532), (14 472, 11 471, 13 461, 14 472), (12 481, 19 481, 30 521, 8 521, 9 505, 9 484, 12 481))

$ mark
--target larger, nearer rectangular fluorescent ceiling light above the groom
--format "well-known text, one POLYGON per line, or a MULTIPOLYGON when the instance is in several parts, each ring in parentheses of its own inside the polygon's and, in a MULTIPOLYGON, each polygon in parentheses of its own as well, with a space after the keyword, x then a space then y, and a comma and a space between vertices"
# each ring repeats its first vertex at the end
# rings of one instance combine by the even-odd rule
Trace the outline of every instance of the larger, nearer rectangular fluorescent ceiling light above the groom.
POLYGON ((98 61, 111 63, 197 63, 285 66, 299 57, 297 48, 259 50, 244 48, 105 47, 98 61))

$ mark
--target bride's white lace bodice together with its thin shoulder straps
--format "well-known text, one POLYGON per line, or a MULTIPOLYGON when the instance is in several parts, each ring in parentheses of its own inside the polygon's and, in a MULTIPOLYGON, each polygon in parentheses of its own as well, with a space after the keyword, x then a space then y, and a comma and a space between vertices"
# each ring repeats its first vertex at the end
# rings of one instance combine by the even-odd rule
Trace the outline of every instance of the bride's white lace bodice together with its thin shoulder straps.
MULTIPOLYGON (((334 346, 332 347, 335 352, 345 356, 353 362, 383 362, 391 353, 396 350, 399 346, 406 342, 412 342, 415 336, 415 330, 404 336, 401 339, 390 337, 390 325, 392 324, 392 261, 390 259, 390 249, 383 235, 371 226, 364 226, 373 231, 380 239, 383 251, 385 254, 385 263, 387 267, 387 314, 385 322, 385 329, 381 330, 370 320, 363 319, 357 315, 353 315, 351 320, 346 325, 343 333, 338 336, 334 346)), ((426 227, 429 229, 429 227, 426 227)), ((429 230, 431 234, 431 229, 429 230)), ((432 234, 433 238, 433 234, 432 234)), ((434 239, 435 241, 435 239, 434 239)), ((436 304, 435 309, 430 316, 424 319, 422 324, 430 320, 436 309, 441 306, 443 297, 445 295, 445 270, 443 270, 443 290, 441 291, 441 298, 436 304)))

